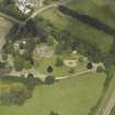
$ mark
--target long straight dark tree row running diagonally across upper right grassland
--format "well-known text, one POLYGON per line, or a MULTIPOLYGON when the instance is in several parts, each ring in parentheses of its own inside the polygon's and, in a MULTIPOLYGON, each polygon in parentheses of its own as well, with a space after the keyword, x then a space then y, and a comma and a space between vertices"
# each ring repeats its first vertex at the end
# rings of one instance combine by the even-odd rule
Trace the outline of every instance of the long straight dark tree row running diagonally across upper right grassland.
POLYGON ((67 15, 70 15, 83 23, 87 23, 97 30, 101 30, 110 35, 115 35, 115 28, 104 24, 103 22, 99 21, 97 19, 95 18, 91 18, 87 14, 82 14, 82 13, 79 13, 77 11, 73 11, 67 7, 64 7, 64 5, 59 5, 58 7, 59 11, 61 11, 62 13, 67 14, 67 15))

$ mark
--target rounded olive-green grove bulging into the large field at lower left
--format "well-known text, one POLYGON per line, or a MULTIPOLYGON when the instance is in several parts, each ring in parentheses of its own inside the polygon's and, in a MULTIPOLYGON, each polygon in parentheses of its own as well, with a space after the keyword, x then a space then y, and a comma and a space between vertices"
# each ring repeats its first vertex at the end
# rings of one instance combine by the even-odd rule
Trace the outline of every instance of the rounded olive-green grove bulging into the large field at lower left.
POLYGON ((24 84, 16 83, 16 84, 9 84, 10 90, 2 89, 0 93, 0 101, 4 105, 12 105, 18 104, 22 105, 25 100, 31 97, 31 92, 26 89, 24 84))

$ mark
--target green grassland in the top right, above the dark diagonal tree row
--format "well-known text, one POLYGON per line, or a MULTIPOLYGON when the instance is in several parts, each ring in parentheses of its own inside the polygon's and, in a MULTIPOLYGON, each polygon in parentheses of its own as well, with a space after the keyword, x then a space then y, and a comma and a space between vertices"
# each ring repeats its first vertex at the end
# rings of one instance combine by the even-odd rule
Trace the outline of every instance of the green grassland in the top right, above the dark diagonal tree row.
POLYGON ((88 14, 91 18, 96 18, 101 22, 115 28, 115 14, 113 14, 108 5, 104 3, 99 3, 96 0, 82 0, 81 2, 71 3, 68 7, 74 11, 88 14))

